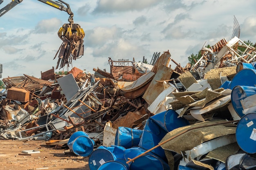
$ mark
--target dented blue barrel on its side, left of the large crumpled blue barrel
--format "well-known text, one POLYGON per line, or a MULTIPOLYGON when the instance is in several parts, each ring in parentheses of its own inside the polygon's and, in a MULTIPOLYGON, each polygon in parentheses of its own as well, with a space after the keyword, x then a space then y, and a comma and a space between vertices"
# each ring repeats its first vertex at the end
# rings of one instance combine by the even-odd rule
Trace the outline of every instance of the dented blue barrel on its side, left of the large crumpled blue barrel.
POLYGON ((115 137, 115 145, 123 146, 124 148, 132 148, 139 146, 143 130, 132 129, 127 127, 118 127, 115 137))

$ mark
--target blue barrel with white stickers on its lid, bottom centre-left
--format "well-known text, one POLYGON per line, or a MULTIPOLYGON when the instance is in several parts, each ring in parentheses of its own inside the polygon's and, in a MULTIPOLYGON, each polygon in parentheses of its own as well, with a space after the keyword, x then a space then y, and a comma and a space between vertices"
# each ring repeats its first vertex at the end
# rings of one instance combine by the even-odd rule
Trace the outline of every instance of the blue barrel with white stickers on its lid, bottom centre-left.
POLYGON ((90 170, 98 170, 98 168, 108 161, 124 159, 125 148, 122 146, 100 146, 94 150, 89 157, 90 170))

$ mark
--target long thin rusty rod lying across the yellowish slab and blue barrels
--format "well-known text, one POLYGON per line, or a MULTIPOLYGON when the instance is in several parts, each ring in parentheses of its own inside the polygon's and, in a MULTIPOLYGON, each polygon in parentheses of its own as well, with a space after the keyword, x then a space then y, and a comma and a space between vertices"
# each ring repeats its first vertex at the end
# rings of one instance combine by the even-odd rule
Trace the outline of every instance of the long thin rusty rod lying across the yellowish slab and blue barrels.
POLYGON ((234 122, 238 122, 238 121, 239 120, 233 120, 233 121, 221 122, 221 123, 216 123, 216 124, 211 124, 211 125, 204 125, 204 126, 193 127, 191 129, 184 130, 183 132, 180 132, 177 135, 167 139, 166 141, 161 142, 160 144, 158 144, 157 146, 154 146, 153 148, 147 150, 146 152, 143 152, 142 154, 138 155, 137 157, 135 157, 133 159, 129 159, 128 158, 129 161, 127 161, 126 163, 128 164, 128 163, 134 161, 135 159, 138 159, 139 157, 142 157, 143 155, 145 155, 146 153, 150 152, 151 150, 154 150, 155 148, 158 148, 159 146, 165 144, 166 142, 171 141, 172 139, 174 139, 174 138, 176 138, 176 137, 178 137, 178 136, 180 136, 180 135, 182 135, 182 134, 184 134, 186 132, 189 132, 190 130, 194 130, 194 129, 198 129, 198 128, 205 128, 205 127, 209 127, 209 126, 216 126, 216 125, 221 125, 221 124, 234 123, 234 122))

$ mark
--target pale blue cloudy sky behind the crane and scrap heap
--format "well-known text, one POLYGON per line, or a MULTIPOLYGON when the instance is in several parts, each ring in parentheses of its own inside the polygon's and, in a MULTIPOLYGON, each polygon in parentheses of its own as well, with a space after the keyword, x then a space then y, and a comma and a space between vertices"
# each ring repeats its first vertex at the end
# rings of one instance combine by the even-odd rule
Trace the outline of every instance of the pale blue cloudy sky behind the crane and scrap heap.
MULTIPOLYGON (((4 0, 0 9, 11 0, 4 0)), ((232 37, 234 16, 240 25, 240 40, 256 43, 255 0, 65 0, 74 13, 74 23, 85 32, 84 55, 73 67, 94 73, 110 72, 113 61, 143 56, 151 61, 155 52, 171 53, 186 66, 188 57, 205 45, 232 37)), ((41 77, 56 67, 53 60, 62 40, 57 32, 69 15, 38 0, 23 0, 0 17, 2 78, 41 77)), ((175 64, 170 62, 171 68, 175 64)))

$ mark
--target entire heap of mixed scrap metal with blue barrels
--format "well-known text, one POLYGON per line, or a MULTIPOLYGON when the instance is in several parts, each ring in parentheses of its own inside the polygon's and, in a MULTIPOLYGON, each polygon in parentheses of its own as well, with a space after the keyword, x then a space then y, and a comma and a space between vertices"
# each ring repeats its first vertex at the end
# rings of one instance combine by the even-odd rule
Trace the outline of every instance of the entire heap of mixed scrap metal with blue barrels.
POLYGON ((109 58, 111 73, 74 67, 56 75, 52 68, 42 79, 4 78, 0 137, 68 147, 89 157, 91 170, 112 163, 124 170, 253 169, 255 47, 234 37, 202 52, 184 68, 166 51, 153 66, 109 58))

